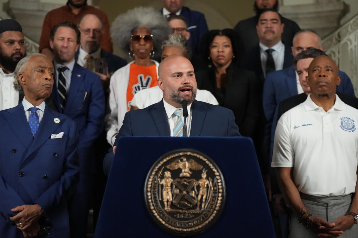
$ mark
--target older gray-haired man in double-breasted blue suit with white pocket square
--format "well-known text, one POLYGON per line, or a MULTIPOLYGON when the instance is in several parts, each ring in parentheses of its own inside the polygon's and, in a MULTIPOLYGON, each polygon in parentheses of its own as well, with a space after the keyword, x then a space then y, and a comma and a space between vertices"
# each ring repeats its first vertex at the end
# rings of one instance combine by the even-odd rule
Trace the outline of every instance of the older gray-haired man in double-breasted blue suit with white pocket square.
POLYGON ((54 74, 46 56, 24 57, 14 74, 25 96, 0 112, 0 234, 68 237, 67 200, 79 178, 76 124, 44 102, 54 74))

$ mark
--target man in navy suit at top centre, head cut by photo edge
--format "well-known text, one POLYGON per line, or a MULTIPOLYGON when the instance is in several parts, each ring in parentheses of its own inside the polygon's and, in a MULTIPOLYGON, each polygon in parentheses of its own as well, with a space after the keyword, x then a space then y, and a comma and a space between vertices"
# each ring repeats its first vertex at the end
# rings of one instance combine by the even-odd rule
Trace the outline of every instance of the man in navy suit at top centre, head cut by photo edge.
POLYGON ((189 7, 183 6, 184 0, 163 0, 163 9, 161 13, 169 17, 171 15, 182 15, 187 21, 190 32, 188 44, 193 50, 193 54, 198 54, 198 46, 201 37, 208 32, 208 25, 204 14, 198 11, 190 10, 189 7))

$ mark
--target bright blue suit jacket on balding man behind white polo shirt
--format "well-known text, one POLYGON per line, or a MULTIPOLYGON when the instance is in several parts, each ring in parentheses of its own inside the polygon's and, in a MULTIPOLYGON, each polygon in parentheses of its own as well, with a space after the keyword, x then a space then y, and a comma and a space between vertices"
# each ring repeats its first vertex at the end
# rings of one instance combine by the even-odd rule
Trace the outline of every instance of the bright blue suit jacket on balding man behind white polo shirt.
MULTIPOLYGON (((338 71, 341 76, 340 85, 337 86, 337 92, 342 92, 350 96, 354 96, 352 82, 347 74, 338 71)), ((264 137, 264 154, 267 158, 267 166, 270 166, 272 150, 274 146, 274 137, 276 130, 277 111, 279 103, 289 97, 298 94, 296 74, 293 66, 286 69, 272 72, 267 75, 263 85, 263 112, 265 113, 266 126, 264 137), (273 123, 275 122, 275 123, 273 123)))

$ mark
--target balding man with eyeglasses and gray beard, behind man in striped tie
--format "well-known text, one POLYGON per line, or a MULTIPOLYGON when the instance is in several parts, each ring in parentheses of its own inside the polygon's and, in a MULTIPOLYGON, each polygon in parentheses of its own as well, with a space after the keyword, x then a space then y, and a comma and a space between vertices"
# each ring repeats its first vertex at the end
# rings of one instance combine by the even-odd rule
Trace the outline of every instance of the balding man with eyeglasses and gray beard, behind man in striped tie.
POLYGON ((98 74, 105 90, 108 89, 111 75, 127 64, 119 56, 108 53, 100 45, 103 36, 102 20, 94 14, 83 15, 77 27, 81 32, 81 45, 75 58, 77 64, 98 74))

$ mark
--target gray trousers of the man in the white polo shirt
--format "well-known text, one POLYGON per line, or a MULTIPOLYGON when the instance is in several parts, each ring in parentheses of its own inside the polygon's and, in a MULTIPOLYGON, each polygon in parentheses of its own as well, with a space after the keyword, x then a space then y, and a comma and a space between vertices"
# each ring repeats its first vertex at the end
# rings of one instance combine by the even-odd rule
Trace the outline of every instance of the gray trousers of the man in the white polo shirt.
MULTIPOLYGON (((321 217, 328 222, 334 222, 338 217, 344 216, 349 212, 352 203, 352 194, 334 197, 317 197, 300 193, 302 202, 307 211, 314 217, 321 217)), ((297 222, 300 214, 291 213, 290 218, 290 238, 316 238, 316 233, 306 229, 301 223, 297 222)), ((340 238, 357 238, 358 225, 353 224, 351 228, 345 230, 340 238)))

